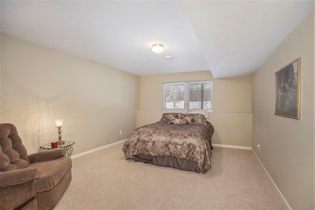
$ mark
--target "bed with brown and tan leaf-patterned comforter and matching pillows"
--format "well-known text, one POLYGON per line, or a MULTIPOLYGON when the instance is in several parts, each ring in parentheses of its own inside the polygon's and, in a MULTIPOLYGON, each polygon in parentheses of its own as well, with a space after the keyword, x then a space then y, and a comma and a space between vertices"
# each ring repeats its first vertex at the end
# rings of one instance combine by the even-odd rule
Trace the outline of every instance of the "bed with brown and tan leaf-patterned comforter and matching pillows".
POLYGON ((213 125, 199 113, 164 113, 157 123, 133 130, 123 151, 126 159, 206 173, 211 168, 213 125))

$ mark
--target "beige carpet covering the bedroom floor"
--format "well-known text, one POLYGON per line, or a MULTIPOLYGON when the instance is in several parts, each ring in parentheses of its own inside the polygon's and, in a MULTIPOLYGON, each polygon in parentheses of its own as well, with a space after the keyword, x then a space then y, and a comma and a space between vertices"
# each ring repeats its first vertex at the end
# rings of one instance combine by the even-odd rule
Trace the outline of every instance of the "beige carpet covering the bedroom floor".
POLYGON ((73 159, 55 210, 279 210, 279 195, 251 150, 215 147, 197 174, 126 160, 123 144, 73 159))

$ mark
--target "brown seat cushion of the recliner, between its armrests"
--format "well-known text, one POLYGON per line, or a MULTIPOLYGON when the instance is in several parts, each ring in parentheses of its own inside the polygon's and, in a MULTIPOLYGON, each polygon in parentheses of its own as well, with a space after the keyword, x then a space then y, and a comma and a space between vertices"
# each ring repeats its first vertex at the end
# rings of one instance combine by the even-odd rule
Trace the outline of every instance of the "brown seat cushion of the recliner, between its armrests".
POLYGON ((52 189, 72 166, 70 157, 64 156, 57 160, 32 163, 29 167, 36 167, 40 177, 35 183, 37 193, 52 189))

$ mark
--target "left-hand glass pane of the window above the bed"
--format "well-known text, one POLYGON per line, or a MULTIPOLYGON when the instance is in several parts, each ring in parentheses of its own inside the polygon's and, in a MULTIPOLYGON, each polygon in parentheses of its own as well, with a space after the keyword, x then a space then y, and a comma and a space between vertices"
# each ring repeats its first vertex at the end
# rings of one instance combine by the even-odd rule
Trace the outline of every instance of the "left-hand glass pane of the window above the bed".
POLYGON ((184 84, 165 85, 165 108, 184 108, 184 84))

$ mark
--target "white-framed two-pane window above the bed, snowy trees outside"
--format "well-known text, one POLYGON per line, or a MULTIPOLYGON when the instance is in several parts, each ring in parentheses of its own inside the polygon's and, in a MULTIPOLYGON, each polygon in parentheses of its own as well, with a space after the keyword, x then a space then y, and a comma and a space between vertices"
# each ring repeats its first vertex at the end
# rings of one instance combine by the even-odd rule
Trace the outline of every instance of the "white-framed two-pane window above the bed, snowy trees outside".
POLYGON ((212 110, 212 80, 164 82, 163 109, 170 108, 212 110))

